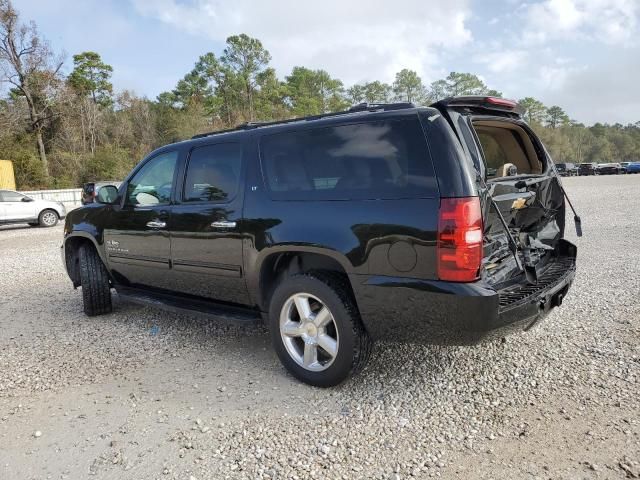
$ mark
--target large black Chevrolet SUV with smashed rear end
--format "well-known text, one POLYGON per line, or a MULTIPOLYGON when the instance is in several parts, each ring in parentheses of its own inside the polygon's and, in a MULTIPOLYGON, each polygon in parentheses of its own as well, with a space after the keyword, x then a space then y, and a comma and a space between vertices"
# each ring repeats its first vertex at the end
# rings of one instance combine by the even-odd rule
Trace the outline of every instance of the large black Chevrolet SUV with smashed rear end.
POLYGON ((69 213, 63 261, 88 315, 115 288, 262 317, 284 366, 318 386, 375 339, 526 330, 561 304, 576 247, 520 113, 492 97, 362 104, 168 145, 69 213))

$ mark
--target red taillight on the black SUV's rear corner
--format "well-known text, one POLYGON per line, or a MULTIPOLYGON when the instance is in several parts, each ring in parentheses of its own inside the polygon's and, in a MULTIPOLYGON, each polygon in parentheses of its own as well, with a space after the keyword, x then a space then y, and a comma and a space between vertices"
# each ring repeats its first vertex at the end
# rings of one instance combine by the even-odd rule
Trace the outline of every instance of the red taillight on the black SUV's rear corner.
POLYGON ((450 282, 472 282, 478 279, 481 261, 480 199, 440 199, 438 277, 450 282))

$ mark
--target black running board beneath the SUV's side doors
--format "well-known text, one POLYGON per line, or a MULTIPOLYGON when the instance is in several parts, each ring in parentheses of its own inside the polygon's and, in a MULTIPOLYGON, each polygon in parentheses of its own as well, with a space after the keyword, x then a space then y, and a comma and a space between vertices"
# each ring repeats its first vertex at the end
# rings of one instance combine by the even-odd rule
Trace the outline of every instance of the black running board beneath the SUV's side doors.
POLYGON ((118 293, 118 297, 125 301, 169 310, 175 313, 197 313, 212 316, 230 323, 247 324, 262 321, 262 316, 257 310, 235 305, 122 286, 116 287, 116 292, 118 293))

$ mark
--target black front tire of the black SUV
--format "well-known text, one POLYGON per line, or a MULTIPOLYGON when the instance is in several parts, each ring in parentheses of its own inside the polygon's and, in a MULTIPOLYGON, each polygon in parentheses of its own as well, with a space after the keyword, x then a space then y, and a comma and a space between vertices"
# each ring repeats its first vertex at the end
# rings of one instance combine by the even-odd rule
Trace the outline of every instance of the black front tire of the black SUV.
POLYGON ((80 285, 84 313, 89 317, 109 313, 111 306, 111 287, 109 275, 93 245, 80 247, 80 285))

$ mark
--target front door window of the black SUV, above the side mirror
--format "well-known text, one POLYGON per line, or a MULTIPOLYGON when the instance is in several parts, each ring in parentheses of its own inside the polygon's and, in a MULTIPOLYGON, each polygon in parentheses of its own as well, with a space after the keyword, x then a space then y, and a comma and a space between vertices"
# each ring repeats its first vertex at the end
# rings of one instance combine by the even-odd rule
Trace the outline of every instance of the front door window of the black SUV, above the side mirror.
POLYGON ((173 151, 161 153, 145 163, 127 186, 127 204, 147 206, 169 203, 177 160, 178 152, 173 151))

